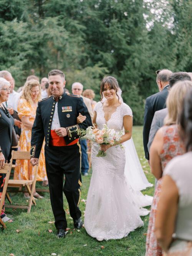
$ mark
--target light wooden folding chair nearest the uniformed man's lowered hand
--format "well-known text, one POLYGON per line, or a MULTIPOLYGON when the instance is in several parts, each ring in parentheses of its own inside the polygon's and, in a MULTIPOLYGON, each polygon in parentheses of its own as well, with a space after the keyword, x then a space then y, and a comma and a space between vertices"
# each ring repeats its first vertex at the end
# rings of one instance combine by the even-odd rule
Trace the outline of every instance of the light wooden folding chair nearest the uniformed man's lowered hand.
MULTIPOLYGON (((12 160, 19 159, 19 160, 30 160, 30 152, 27 151, 12 151, 12 160)), ((38 166, 35 166, 35 176, 33 180, 9 180, 8 181, 8 187, 12 188, 19 188, 19 190, 7 190, 6 196, 10 204, 6 204, 5 207, 7 208, 20 208, 20 209, 27 209, 27 213, 30 213, 31 211, 31 205, 32 203, 36 205, 35 199, 33 198, 33 193, 35 191, 35 185, 36 185, 36 176, 38 172, 38 166), (32 188, 30 189, 30 185, 32 185, 32 188), (24 190, 22 190, 24 188, 24 190), (8 194, 8 192, 28 192, 30 195, 29 203, 28 205, 18 205, 18 204, 12 204, 12 200, 8 194)))

